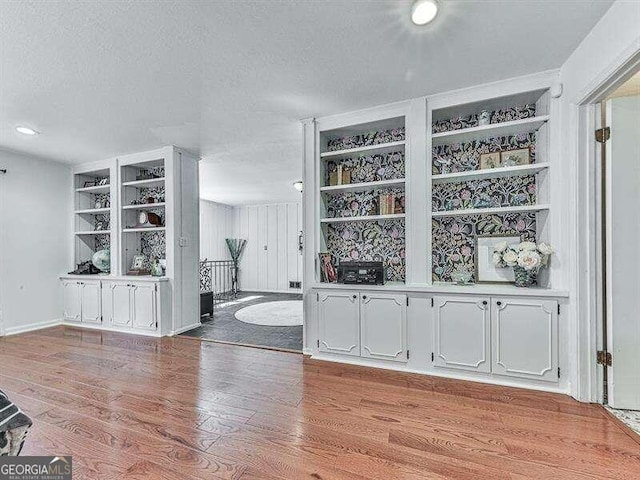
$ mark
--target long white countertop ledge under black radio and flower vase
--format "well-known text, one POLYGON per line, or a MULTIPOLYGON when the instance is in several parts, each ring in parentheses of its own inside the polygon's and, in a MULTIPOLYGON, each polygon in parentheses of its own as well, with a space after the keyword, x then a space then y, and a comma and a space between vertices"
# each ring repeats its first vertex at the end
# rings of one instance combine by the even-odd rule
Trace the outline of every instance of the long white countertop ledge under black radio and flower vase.
POLYGON ((439 294, 471 294, 471 295, 512 295, 519 297, 552 297, 565 298, 569 296, 567 290, 553 288, 521 288, 515 285, 498 285, 490 283, 474 283, 470 285, 455 285, 451 283, 412 284, 401 282, 387 282, 384 285, 362 285, 344 283, 314 283, 312 289, 321 290, 370 290, 384 292, 407 293, 439 293, 439 294))

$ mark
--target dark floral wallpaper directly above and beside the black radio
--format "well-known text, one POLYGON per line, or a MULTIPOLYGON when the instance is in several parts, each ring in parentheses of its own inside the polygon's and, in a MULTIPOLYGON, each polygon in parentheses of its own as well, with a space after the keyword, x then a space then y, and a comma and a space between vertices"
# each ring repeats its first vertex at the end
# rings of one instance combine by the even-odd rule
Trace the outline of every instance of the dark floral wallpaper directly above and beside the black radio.
POLYGON ((402 220, 331 224, 327 227, 327 249, 338 261, 382 261, 387 281, 405 281, 402 220))

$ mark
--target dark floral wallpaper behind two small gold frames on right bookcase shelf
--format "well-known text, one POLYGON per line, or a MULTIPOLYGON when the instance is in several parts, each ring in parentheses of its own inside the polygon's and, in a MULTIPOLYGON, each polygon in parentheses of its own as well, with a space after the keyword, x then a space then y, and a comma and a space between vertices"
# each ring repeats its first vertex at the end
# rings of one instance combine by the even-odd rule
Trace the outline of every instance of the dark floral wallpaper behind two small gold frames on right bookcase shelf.
POLYGON ((441 173, 467 172, 478 170, 480 155, 483 153, 506 152, 520 148, 529 148, 529 161, 536 161, 536 134, 523 133, 506 137, 494 137, 475 140, 469 143, 454 143, 433 147, 434 175, 441 173))

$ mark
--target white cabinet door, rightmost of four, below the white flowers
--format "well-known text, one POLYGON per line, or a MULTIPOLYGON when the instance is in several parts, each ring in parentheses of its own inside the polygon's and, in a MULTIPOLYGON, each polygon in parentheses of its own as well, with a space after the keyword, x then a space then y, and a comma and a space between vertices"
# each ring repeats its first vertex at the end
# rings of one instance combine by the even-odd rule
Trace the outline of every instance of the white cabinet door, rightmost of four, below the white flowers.
POLYGON ((492 299, 493 373, 558 381, 558 303, 492 299))

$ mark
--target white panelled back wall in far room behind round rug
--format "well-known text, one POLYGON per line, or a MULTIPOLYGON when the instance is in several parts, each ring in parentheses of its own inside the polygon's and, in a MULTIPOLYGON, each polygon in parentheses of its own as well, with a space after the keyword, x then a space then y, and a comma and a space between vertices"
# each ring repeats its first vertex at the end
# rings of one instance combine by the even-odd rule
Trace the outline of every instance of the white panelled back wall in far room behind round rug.
POLYGON ((235 236, 247 240, 240 264, 240 288, 299 291, 289 289, 289 281, 302 281, 302 255, 298 250, 301 230, 300 203, 236 208, 235 236))

